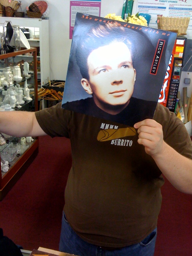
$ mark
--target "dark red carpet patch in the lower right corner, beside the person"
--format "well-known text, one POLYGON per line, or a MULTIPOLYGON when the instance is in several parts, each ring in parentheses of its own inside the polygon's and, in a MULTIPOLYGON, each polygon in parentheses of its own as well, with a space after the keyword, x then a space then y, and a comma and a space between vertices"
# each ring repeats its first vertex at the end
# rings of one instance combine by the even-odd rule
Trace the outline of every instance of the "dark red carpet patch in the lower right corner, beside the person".
POLYGON ((154 256, 192 256, 192 195, 165 180, 162 196, 154 256))

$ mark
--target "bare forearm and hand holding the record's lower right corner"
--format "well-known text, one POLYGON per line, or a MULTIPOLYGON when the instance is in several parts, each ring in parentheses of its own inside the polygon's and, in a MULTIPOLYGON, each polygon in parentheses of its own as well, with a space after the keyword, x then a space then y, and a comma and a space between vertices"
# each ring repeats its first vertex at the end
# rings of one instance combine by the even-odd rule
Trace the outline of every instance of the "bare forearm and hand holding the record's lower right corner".
POLYGON ((134 125, 138 143, 145 147, 172 185, 181 192, 192 194, 192 160, 180 155, 163 140, 162 125, 146 119, 134 125))

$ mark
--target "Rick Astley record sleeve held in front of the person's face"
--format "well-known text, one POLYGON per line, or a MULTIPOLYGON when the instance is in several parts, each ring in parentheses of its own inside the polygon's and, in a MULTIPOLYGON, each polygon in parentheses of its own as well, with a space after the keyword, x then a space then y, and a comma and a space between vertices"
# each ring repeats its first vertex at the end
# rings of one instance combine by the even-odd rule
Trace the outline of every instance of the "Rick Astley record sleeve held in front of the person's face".
POLYGON ((77 13, 62 108, 129 126, 153 118, 176 36, 77 13))

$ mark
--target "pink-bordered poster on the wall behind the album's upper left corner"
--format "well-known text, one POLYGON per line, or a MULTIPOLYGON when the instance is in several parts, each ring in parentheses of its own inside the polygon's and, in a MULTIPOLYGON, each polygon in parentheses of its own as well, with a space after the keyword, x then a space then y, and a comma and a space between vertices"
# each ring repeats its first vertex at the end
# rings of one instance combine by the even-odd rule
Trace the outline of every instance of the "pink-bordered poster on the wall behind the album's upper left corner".
POLYGON ((76 0, 70 1, 70 25, 69 25, 69 39, 72 39, 73 28, 75 24, 76 13, 81 12, 84 14, 100 16, 101 0, 76 0))

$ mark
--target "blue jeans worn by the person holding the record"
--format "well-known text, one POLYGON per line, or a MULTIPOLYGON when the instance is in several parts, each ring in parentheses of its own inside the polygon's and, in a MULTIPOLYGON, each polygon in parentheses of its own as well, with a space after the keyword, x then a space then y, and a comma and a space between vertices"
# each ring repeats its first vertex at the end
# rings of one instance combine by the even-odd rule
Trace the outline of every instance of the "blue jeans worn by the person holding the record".
POLYGON ((59 250, 78 256, 153 256, 155 251, 157 228, 138 244, 116 250, 103 250, 100 246, 85 242, 68 224, 65 215, 62 218, 59 250))

